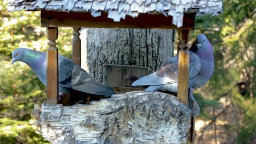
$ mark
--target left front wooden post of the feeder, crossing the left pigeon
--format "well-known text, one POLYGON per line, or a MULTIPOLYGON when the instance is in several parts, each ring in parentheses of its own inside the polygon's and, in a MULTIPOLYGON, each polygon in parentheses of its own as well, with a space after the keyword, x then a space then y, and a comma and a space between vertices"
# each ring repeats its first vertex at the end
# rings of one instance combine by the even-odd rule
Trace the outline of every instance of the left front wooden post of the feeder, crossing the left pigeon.
POLYGON ((58 28, 46 29, 49 48, 47 50, 47 104, 58 104, 59 101, 59 72, 58 48, 55 40, 58 39, 58 28))

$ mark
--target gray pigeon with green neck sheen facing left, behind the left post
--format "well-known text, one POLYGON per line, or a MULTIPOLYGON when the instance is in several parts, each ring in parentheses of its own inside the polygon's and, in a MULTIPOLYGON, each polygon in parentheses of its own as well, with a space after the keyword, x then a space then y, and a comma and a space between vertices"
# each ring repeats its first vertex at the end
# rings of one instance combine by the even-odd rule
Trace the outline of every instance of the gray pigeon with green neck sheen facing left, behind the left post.
MULTIPOLYGON (((21 61, 27 64, 46 86, 47 59, 46 52, 26 48, 17 48, 12 52, 12 64, 21 61)), ((59 60, 59 91, 60 95, 71 89, 95 95, 111 96, 114 91, 92 79, 89 74, 70 59, 58 55, 59 60)))

